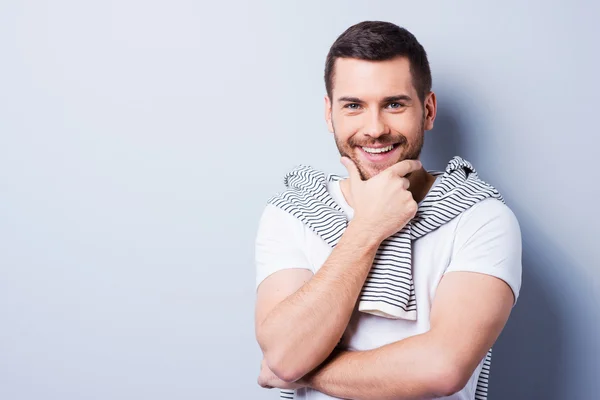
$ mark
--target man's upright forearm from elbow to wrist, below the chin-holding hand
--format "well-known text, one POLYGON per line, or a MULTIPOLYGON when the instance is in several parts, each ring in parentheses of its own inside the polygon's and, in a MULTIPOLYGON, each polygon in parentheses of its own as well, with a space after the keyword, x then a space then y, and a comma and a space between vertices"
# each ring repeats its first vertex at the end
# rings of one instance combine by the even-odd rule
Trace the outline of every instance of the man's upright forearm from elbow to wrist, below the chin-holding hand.
POLYGON ((269 368, 296 380, 321 364, 339 342, 380 242, 352 225, 319 271, 278 304, 258 330, 269 368))

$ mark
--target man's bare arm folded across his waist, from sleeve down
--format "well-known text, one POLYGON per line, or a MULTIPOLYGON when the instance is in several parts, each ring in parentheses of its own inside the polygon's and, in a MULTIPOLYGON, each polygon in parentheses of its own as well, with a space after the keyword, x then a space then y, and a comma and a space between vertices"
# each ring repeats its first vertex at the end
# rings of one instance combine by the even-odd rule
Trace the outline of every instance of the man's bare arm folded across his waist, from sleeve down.
POLYGON ((441 280, 431 330, 361 352, 339 352, 299 383, 345 399, 429 399, 461 390, 508 320, 502 280, 450 272, 441 280))

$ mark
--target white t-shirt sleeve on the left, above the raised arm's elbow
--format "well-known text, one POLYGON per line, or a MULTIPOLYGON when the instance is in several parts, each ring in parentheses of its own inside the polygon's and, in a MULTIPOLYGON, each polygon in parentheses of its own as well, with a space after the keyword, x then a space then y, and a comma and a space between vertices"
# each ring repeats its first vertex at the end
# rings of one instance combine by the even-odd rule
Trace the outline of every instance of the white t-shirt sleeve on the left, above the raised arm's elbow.
POLYGON ((256 289, 269 275, 283 269, 313 271, 306 257, 305 243, 304 224, 287 211, 267 204, 255 242, 256 289))

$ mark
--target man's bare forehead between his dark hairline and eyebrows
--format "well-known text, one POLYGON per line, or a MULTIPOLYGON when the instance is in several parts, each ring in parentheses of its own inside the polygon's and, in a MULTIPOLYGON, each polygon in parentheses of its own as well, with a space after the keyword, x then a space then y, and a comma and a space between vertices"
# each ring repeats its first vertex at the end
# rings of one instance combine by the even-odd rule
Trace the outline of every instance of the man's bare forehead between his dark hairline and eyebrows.
POLYGON ((333 74, 333 97, 354 96, 368 101, 390 95, 414 95, 406 57, 385 61, 338 58, 333 74))

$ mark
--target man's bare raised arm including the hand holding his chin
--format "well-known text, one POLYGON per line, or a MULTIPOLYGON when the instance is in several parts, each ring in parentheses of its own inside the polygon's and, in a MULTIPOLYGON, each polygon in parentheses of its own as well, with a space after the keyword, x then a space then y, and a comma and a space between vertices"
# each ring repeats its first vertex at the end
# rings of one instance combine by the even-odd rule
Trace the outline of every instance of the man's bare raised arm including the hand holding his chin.
POLYGON ((285 284, 295 291, 279 292, 278 302, 274 300, 275 280, 271 284, 265 280, 258 289, 257 340, 269 369, 286 382, 300 379, 333 351, 379 245, 417 211, 407 190, 409 181, 403 176, 422 168, 420 162, 402 161, 367 181, 361 180, 349 159, 343 162, 350 173, 348 194, 355 216, 327 261, 308 282, 285 284))

